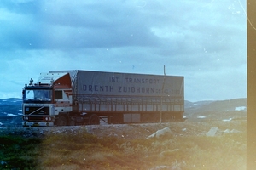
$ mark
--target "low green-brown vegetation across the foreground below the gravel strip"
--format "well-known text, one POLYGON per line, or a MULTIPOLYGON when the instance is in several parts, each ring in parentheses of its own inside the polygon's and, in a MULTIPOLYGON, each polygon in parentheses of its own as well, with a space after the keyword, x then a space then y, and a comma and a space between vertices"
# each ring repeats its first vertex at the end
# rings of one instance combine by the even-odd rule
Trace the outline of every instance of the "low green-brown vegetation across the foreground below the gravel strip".
POLYGON ((0 136, 0 163, 0 169, 240 170, 246 165, 246 133, 125 140, 84 129, 44 139, 0 136))

